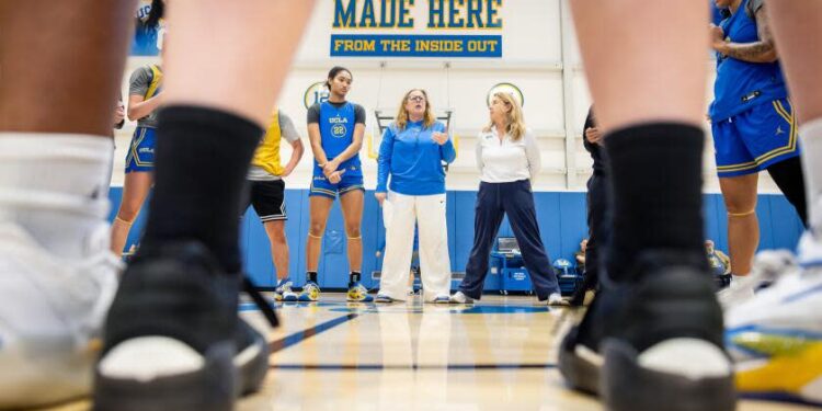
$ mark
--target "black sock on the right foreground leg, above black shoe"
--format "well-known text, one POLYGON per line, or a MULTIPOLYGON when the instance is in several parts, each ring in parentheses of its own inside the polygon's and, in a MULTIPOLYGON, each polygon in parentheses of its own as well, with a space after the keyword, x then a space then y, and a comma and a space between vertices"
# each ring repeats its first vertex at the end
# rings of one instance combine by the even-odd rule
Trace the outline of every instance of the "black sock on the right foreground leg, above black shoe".
POLYGON ((642 251, 704 254, 703 130, 655 123, 617 130, 605 141, 613 190, 608 277, 631 281, 642 251))

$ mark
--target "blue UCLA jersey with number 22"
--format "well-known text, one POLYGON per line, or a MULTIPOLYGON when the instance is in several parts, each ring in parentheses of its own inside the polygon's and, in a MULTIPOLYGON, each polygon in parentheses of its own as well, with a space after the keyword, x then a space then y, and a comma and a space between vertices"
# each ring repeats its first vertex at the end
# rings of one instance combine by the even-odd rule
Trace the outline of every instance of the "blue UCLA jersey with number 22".
MULTIPOLYGON (((354 141, 354 126, 356 125, 356 112, 354 104, 345 103, 340 107, 329 102, 320 103, 320 136, 326 157, 333 160, 345 151, 354 141)), ((339 170, 345 170, 346 175, 363 175, 359 165, 359 153, 343 161, 339 170)), ((322 173, 319 163, 315 160, 315 173, 322 173)))

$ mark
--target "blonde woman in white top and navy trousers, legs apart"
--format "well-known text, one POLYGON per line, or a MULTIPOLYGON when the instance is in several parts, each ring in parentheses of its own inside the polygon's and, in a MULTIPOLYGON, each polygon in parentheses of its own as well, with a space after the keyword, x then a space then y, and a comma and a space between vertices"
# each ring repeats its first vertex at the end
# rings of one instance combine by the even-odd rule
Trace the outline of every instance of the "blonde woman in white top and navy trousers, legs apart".
POLYGON ((530 180, 539 173, 539 147, 525 128, 520 104, 507 93, 495 93, 489 106, 491 122, 479 134, 477 165, 480 189, 473 219, 473 247, 455 304, 482 296, 488 256, 502 217, 507 215, 516 242, 540 302, 562 305, 557 275, 539 237, 530 180))

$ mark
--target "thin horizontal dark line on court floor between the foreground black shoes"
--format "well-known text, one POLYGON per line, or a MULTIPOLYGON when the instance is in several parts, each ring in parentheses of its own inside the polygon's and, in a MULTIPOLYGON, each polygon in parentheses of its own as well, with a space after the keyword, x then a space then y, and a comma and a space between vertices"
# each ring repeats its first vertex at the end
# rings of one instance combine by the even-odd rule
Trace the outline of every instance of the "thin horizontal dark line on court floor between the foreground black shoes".
POLYGON ((481 370, 481 369, 552 369, 557 364, 445 364, 445 365, 383 365, 383 364, 272 364, 272 369, 302 369, 328 372, 381 372, 381 370, 481 370))

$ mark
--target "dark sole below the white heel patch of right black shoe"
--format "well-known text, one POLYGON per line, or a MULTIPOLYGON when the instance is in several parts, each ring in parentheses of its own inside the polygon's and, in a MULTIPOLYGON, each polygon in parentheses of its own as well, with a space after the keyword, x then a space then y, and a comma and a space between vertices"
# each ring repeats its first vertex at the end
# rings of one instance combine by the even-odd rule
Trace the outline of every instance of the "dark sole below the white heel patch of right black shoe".
POLYGON ((737 408, 733 374, 699 379, 642 368, 629 344, 607 339, 600 392, 613 411, 731 411, 737 408))

